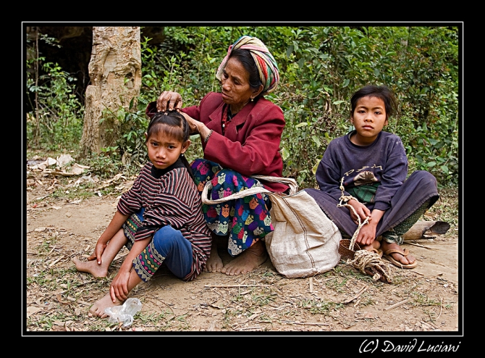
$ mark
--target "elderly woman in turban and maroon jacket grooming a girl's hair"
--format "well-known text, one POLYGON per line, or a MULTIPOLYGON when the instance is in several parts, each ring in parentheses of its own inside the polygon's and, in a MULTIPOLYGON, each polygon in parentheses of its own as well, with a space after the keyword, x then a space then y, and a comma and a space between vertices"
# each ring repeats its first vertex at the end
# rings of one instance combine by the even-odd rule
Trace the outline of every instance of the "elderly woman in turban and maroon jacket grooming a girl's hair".
MULTIPOLYGON (((285 127, 283 111, 263 96, 279 83, 278 66, 265 44, 256 37, 243 36, 229 46, 216 78, 220 93, 210 92, 200 105, 182 108, 177 92, 164 91, 151 102, 146 113, 179 109, 193 134, 202 139, 204 159, 191 164, 200 193, 211 181, 211 198, 220 199, 252 186, 264 186, 284 193, 288 186, 258 181, 252 175, 281 177, 283 160, 279 153, 285 127)), ((203 206, 212 231, 213 243, 206 271, 227 275, 245 274, 267 259, 263 238, 273 231, 270 199, 258 194, 223 204, 203 206), (223 265, 218 244, 224 244, 233 260, 223 265)))

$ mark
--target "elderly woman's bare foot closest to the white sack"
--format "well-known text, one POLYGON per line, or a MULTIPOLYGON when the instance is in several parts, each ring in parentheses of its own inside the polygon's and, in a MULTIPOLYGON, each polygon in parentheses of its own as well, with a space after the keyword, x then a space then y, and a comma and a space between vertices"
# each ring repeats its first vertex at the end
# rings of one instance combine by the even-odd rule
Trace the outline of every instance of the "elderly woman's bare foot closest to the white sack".
POLYGON ((267 252, 265 243, 262 240, 258 240, 251 247, 224 265, 221 272, 222 274, 230 276, 247 274, 249 271, 259 267, 259 265, 263 265, 266 260, 267 252))

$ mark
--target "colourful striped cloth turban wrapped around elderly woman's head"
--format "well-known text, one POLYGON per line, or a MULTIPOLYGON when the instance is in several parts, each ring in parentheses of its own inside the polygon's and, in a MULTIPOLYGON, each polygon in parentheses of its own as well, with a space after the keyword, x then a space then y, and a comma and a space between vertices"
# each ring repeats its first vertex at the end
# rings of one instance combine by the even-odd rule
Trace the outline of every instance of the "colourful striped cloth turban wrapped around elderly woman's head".
POLYGON ((227 55, 220 63, 218 71, 215 73, 215 77, 218 78, 218 80, 221 80, 222 70, 224 70, 224 66, 226 66, 227 60, 229 60, 231 51, 238 48, 249 50, 252 57, 254 58, 254 62, 256 62, 256 66, 258 67, 259 72, 259 78, 261 79, 261 82, 264 86, 261 94, 266 94, 274 91, 279 83, 278 65, 276 64, 273 55, 270 53, 270 50, 267 49, 261 39, 258 39, 256 37, 242 36, 238 39, 238 41, 234 42, 231 46, 229 46, 229 49, 227 50, 227 55))

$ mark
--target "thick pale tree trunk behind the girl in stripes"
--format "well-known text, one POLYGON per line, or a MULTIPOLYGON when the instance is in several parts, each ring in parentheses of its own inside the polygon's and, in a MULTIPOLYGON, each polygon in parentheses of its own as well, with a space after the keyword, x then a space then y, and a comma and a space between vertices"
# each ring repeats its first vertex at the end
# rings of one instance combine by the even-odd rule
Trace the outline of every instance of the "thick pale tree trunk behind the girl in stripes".
POLYGON ((100 153, 121 136, 118 109, 129 110, 140 94, 141 45, 139 26, 93 27, 89 61, 91 84, 86 89, 81 154, 100 153), (103 121, 100 122, 100 120, 103 121))

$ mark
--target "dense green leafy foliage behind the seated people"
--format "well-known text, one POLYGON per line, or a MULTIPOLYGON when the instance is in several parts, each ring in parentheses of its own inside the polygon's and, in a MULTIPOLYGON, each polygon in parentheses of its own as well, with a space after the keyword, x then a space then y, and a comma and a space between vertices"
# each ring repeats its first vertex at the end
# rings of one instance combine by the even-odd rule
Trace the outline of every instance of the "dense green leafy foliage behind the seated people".
MULTIPOLYGON (((409 171, 429 170, 441 185, 458 183, 459 28, 167 26, 164 35, 157 46, 142 39, 138 108, 111 114, 121 123, 123 135, 103 150, 105 158, 123 160, 125 168, 145 161, 148 102, 170 90, 182 95, 184 106, 197 105, 207 92, 219 91, 215 71, 229 44, 252 35, 270 48, 279 65, 279 88, 267 98, 285 114, 283 174, 296 178, 301 188, 315 186, 315 169, 326 146, 351 129, 351 94, 368 83, 387 84, 396 92, 399 111, 385 130, 403 139, 409 171)), ((42 39, 54 44, 53 39, 42 39)), ((33 58, 49 69, 49 81, 42 87, 28 77, 28 91, 36 91, 41 103, 39 129, 49 133, 41 137, 46 145, 67 145, 80 137, 76 118, 82 118, 82 109, 69 97, 70 76, 38 55, 33 58)), ((30 60, 28 68, 33 64, 30 60)), ((28 121, 29 139, 34 129, 35 121, 28 121)), ((188 155, 195 159, 202 156, 202 145, 198 136, 191 139, 188 155)), ((109 163, 107 170, 121 166, 109 163)))

